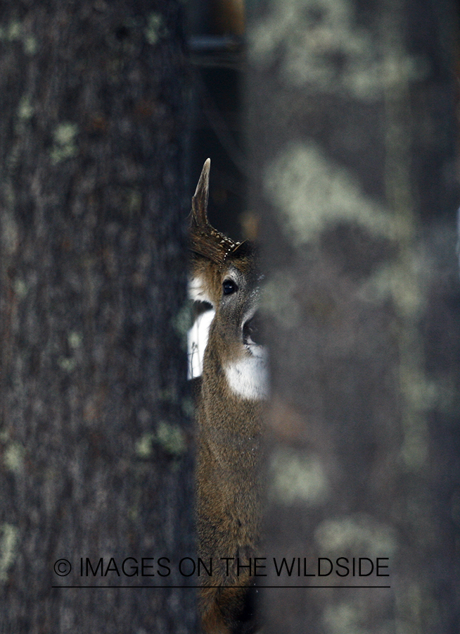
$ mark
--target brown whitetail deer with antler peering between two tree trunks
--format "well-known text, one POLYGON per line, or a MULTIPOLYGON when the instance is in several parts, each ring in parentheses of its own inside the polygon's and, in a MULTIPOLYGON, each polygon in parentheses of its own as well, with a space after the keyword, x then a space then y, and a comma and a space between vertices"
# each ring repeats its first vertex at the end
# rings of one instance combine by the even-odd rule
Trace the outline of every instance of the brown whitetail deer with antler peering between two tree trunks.
POLYGON ((241 566, 256 556, 260 528, 267 389, 256 313, 260 275, 254 246, 230 240, 207 220, 209 172, 207 159, 192 199, 190 236, 191 297, 215 309, 197 407, 198 555, 212 561, 212 576, 200 577, 200 616, 206 634, 250 633, 253 568, 241 566))

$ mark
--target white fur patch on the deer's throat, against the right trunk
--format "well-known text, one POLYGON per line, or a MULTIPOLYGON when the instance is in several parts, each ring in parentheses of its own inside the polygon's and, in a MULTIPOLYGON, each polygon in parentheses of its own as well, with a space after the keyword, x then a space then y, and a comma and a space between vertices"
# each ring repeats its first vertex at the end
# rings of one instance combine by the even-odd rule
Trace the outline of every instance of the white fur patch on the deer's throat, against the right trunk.
POLYGON ((250 401, 268 396, 267 352, 262 347, 258 348, 258 356, 245 356, 224 368, 230 390, 250 401))

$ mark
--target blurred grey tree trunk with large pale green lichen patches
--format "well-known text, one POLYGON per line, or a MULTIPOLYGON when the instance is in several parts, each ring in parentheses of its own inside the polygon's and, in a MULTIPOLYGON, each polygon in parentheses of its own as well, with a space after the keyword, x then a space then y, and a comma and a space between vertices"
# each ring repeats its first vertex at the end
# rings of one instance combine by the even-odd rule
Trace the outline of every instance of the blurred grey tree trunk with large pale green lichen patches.
POLYGON ((456 23, 447 0, 274 0, 251 18, 272 368, 264 581, 333 586, 267 588, 267 633, 459 629, 456 23), (278 576, 274 557, 300 572, 278 576), (338 557, 374 572, 340 576, 338 557))

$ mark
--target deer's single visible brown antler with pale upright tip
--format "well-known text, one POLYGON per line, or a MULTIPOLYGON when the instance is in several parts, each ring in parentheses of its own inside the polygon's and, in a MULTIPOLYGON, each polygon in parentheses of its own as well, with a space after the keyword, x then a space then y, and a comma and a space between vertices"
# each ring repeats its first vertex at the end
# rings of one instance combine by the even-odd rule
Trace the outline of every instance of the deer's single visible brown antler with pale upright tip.
POLYGON ((192 198, 190 249, 193 253, 222 266, 226 256, 238 249, 241 242, 234 242, 231 238, 226 237, 212 227, 207 220, 210 167, 211 159, 206 159, 192 198))

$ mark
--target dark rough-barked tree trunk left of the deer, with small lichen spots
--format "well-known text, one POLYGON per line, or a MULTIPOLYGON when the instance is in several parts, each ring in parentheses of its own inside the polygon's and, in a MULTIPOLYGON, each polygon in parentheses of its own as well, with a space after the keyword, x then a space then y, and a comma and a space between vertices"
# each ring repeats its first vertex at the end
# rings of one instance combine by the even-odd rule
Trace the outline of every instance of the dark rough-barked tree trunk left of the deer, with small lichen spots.
POLYGON ((1 4, 1 632, 195 623, 179 4, 1 4))

